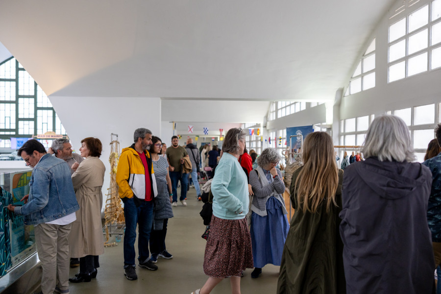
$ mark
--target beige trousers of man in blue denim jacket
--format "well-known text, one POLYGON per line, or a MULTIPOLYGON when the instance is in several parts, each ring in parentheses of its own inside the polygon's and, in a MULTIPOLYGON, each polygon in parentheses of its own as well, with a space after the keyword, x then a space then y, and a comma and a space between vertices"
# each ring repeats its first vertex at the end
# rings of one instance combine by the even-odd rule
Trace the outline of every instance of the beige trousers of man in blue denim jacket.
POLYGON ((69 289, 69 242, 71 224, 40 223, 34 229, 38 258, 43 268, 41 291, 52 294, 58 278, 60 290, 69 289))

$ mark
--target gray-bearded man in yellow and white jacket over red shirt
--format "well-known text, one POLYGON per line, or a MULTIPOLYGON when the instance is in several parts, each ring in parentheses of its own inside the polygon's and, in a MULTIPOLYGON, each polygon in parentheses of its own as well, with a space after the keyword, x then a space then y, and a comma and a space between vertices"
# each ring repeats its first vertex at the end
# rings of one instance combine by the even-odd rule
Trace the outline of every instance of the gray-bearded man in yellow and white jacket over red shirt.
POLYGON ((134 144, 121 153, 116 181, 124 202, 124 274, 129 280, 138 278, 135 270, 136 224, 138 228, 139 266, 147 270, 158 267, 148 258, 148 240, 153 223, 153 198, 157 195, 155 174, 150 153, 152 133, 146 128, 135 130, 134 144))

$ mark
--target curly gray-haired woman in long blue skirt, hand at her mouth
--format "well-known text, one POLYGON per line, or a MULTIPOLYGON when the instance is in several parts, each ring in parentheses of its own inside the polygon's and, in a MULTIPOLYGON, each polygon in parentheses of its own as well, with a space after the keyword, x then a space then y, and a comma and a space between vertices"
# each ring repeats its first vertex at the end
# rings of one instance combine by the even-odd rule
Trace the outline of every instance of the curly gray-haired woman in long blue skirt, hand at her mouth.
POLYGON ((282 173, 275 168, 280 158, 276 149, 266 148, 257 158, 257 168, 249 173, 254 193, 250 231, 255 267, 252 278, 259 277, 267 264, 280 266, 288 235, 287 210, 282 196, 285 184, 282 173))

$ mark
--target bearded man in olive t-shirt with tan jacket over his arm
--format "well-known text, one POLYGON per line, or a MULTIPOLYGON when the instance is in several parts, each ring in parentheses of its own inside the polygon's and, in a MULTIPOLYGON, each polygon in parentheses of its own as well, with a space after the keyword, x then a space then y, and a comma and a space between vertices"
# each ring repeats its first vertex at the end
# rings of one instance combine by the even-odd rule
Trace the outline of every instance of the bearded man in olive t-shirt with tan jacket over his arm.
POLYGON ((172 179, 172 206, 177 206, 176 188, 178 180, 181 182, 181 197, 179 200, 182 205, 187 206, 185 199, 187 199, 188 173, 181 173, 181 161, 182 158, 188 157, 188 153, 184 147, 179 146, 179 138, 177 136, 172 137, 172 146, 167 148, 166 155, 170 165, 170 178, 172 179))

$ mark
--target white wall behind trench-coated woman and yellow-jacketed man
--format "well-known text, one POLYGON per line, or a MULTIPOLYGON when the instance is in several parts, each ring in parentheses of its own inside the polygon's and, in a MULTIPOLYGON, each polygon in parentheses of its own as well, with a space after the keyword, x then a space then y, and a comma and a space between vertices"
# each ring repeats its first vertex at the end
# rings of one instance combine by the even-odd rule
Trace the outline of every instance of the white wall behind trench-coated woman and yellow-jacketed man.
POLYGON ((133 144, 135 129, 145 127, 153 134, 161 131, 160 98, 124 97, 49 97, 66 129, 72 146, 79 153, 81 140, 96 137, 101 140, 100 159, 106 167, 102 186, 103 209, 110 185, 110 134, 118 134, 120 152, 133 144))

